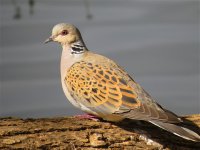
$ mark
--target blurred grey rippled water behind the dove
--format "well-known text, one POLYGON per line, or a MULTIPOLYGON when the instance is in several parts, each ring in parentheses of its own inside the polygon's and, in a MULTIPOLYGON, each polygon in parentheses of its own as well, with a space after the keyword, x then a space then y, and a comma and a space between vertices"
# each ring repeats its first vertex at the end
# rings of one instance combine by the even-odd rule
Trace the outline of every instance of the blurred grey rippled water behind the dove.
POLYGON ((75 24, 87 47, 121 66, 179 115, 200 112, 198 0, 0 0, 0 116, 82 113, 60 83, 52 27, 75 24))

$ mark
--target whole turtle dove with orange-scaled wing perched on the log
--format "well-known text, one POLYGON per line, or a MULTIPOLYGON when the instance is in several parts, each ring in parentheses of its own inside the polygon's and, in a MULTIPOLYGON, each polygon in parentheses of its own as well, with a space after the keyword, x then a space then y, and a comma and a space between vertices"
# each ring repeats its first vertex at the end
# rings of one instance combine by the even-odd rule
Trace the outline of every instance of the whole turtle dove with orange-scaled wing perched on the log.
POLYGON ((55 25, 45 43, 52 41, 62 46, 61 83, 72 105, 106 121, 143 120, 200 142, 197 133, 180 126, 182 119, 159 105, 122 67, 90 51, 73 24, 55 25))

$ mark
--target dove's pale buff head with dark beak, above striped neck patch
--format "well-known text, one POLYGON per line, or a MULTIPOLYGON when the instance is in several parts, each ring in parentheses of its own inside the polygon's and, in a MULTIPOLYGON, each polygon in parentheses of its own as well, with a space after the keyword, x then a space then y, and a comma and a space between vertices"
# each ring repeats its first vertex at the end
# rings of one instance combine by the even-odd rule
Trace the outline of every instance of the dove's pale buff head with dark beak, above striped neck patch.
POLYGON ((61 45, 71 45, 75 42, 82 41, 79 30, 72 24, 59 23, 52 29, 52 35, 45 41, 58 42, 61 45))

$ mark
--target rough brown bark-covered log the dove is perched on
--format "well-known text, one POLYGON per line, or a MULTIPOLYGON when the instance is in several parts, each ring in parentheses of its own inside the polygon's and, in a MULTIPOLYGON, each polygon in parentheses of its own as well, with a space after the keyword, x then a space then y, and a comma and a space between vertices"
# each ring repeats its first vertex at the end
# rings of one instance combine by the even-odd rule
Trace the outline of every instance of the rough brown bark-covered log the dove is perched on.
MULTIPOLYGON (((200 133, 200 114, 183 117, 200 133)), ((143 121, 120 123, 74 117, 0 118, 0 149, 200 149, 200 143, 179 138, 143 121)))

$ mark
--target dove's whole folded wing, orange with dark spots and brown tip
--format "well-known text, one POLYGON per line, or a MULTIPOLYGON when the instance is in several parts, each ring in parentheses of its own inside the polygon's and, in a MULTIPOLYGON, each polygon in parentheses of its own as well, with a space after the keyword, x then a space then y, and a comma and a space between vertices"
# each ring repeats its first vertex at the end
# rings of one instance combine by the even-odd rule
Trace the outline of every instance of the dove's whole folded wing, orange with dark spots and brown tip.
POLYGON ((67 72, 65 84, 71 96, 94 112, 138 120, 179 122, 164 110, 123 69, 112 61, 80 61, 67 72))

